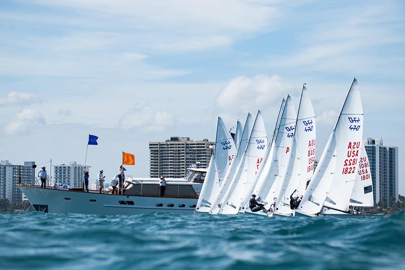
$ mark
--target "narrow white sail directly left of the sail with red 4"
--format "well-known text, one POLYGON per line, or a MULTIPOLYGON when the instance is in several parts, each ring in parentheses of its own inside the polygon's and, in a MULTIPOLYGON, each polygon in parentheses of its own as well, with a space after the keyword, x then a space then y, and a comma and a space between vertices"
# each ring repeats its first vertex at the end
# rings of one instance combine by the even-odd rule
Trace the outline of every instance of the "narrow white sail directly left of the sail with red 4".
POLYGON ((277 121, 274 126, 273 136, 271 138, 271 141, 267 145, 267 149, 266 149, 266 153, 264 154, 262 165, 259 167, 259 171, 255 177, 256 184, 253 189, 253 194, 257 195, 256 198, 258 198, 259 200, 260 200, 260 196, 261 196, 261 190, 262 190, 265 182, 267 181, 267 177, 268 177, 268 174, 270 171, 271 163, 272 163, 273 156, 274 156, 275 138, 278 133, 278 127, 280 125, 281 115, 284 112, 285 105, 286 105, 286 100, 283 98, 281 101, 280 109, 278 111, 277 121))

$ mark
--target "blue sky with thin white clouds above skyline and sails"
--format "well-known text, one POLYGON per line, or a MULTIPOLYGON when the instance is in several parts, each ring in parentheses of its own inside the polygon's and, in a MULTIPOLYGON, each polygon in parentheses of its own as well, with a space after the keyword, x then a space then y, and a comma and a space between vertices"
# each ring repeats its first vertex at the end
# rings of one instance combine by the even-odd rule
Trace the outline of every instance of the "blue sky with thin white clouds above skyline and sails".
MULTIPOLYGON (((306 83, 320 157, 355 77, 363 137, 399 147, 405 194, 402 1, 0 3, 0 159, 87 164, 95 178, 147 177, 149 141, 215 140, 218 116, 260 109, 271 134, 281 99, 306 83)), ((49 164, 48 164, 49 166, 49 164)))

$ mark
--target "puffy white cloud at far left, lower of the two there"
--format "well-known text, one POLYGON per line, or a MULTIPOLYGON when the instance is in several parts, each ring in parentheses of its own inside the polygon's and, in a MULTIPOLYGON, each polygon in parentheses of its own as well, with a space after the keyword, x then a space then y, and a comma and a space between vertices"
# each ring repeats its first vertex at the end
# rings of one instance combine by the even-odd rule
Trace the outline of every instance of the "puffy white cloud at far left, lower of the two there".
POLYGON ((7 135, 27 134, 33 128, 44 126, 44 116, 35 109, 27 108, 14 115, 4 131, 7 135))

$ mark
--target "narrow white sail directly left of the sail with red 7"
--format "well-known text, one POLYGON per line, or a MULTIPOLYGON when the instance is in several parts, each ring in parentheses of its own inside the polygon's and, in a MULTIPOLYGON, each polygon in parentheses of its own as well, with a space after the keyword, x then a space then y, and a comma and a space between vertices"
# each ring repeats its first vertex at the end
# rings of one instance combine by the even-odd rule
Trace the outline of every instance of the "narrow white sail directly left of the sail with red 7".
POLYGON ((221 208, 221 202, 224 199, 229 187, 231 186, 233 176, 245 153, 250 138, 250 134, 252 132, 252 128, 253 128, 252 114, 248 113, 248 117, 246 118, 245 127, 242 132, 242 136, 240 138, 239 148, 236 152, 236 156, 232 160, 229 170, 226 172, 224 181, 221 185, 218 195, 210 209, 210 214, 218 214, 221 208))

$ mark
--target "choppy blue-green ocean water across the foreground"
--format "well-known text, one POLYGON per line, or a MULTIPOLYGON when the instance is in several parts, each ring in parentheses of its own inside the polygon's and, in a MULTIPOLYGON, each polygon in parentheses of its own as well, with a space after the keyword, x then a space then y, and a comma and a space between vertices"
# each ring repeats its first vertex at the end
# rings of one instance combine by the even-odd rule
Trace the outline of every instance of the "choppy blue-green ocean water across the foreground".
POLYGON ((0 214, 0 269, 400 269, 405 212, 383 218, 0 214))

